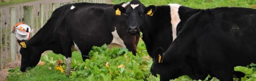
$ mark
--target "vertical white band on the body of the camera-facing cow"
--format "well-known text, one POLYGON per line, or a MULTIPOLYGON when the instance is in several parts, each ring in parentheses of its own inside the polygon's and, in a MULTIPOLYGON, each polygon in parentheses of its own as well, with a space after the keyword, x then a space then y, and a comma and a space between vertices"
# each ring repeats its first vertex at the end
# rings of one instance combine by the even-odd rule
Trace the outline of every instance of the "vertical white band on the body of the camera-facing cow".
POLYGON ((177 25, 180 23, 180 15, 178 13, 180 5, 179 4, 168 4, 170 6, 171 23, 172 23, 172 41, 177 38, 177 25))

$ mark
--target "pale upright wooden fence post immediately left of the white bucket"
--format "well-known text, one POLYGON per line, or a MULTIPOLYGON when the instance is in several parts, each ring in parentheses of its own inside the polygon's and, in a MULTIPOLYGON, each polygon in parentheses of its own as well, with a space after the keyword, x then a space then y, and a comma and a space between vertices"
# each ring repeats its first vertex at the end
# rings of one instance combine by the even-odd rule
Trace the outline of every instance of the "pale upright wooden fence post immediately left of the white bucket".
MULTIPOLYGON (((14 26, 16 23, 16 14, 15 14, 15 7, 10 8, 10 27, 14 26)), ((12 29, 10 29, 12 32, 12 29)), ((10 57, 11 61, 14 62, 16 58, 16 41, 15 35, 13 33, 10 34, 10 57)))

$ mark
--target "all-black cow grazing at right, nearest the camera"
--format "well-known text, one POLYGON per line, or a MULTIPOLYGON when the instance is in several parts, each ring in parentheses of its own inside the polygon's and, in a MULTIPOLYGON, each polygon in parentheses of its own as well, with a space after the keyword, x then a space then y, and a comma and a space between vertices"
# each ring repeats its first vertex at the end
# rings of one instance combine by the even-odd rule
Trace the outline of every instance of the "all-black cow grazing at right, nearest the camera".
POLYGON ((162 81, 181 75, 204 79, 207 74, 233 81, 235 66, 256 63, 255 49, 255 9, 202 10, 186 21, 166 52, 162 48, 155 51, 151 72, 160 74, 162 81))

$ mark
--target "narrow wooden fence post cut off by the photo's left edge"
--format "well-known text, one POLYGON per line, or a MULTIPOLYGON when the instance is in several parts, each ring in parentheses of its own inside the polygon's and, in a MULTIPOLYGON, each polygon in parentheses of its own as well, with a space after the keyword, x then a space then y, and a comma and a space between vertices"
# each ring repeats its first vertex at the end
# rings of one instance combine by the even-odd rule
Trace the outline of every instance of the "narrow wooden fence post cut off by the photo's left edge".
POLYGON ((3 46, 2 46, 2 9, 0 8, 0 34, 1 34, 1 39, 0 39, 0 44, 1 44, 1 49, 0 49, 0 70, 2 69, 2 50, 3 50, 3 46))

